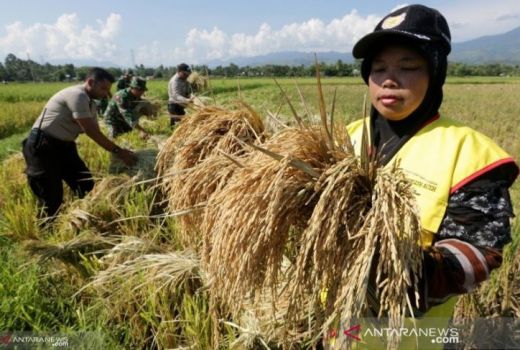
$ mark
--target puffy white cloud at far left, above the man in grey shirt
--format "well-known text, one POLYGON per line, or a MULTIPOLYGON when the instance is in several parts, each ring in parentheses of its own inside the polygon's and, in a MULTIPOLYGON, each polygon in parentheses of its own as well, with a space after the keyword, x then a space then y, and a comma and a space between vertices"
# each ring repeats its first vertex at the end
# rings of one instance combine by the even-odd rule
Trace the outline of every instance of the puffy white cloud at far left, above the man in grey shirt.
POLYGON ((25 58, 53 59, 113 59, 117 49, 115 39, 121 28, 121 15, 112 13, 97 25, 81 27, 77 14, 63 14, 53 24, 36 23, 24 26, 14 22, 5 26, 0 37, 0 53, 13 53, 25 58))

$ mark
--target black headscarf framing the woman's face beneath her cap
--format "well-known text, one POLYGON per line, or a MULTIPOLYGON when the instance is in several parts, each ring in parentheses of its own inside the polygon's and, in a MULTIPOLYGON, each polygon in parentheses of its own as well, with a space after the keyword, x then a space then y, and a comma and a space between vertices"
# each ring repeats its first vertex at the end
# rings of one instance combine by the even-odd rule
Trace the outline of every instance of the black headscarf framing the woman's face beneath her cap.
MULTIPOLYGON (((386 43, 388 45, 388 43, 386 43)), ((428 62, 429 84, 422 103, 408 117, 392 121, 379 114, 374 106, 370 109, 372 145, 381 156, 382 164, 388 163, 401 147, 439 113, 442 103, 442 86, 446 80, 447 54, 439 45, 409 41, 396 44, 409 46, 421 54, 428 62)), ((376 46, 377 47, 377 46, 376 46)), ((379 47, 384 47, 379 46, 379 47)), ((378 51, 366 57, 361 65, 361 75, 368 83, 372 60, 378 51)))

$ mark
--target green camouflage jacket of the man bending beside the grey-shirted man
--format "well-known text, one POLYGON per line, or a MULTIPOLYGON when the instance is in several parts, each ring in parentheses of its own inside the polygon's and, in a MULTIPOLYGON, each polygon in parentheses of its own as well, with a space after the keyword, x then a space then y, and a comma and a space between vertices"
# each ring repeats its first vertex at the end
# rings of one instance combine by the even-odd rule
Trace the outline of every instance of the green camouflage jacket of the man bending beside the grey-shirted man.
POLYGON ((134 97, 130 93, 130 88, 116 92, 105 110, 105 122, 110 126, 127 124, 134 128, 139 121, 136 107, 140 101, 142 101, 140 97, 134 97))

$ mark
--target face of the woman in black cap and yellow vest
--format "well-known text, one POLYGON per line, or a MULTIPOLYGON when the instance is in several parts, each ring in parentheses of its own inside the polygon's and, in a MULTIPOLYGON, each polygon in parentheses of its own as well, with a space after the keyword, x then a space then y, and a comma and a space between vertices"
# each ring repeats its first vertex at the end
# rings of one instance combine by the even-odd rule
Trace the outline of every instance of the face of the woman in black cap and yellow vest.
POLYGON ((374 56, 368 80, 372 104, 389 120, 403 120, 428 90, 428 63, 406 46, 391 45, 374 56))

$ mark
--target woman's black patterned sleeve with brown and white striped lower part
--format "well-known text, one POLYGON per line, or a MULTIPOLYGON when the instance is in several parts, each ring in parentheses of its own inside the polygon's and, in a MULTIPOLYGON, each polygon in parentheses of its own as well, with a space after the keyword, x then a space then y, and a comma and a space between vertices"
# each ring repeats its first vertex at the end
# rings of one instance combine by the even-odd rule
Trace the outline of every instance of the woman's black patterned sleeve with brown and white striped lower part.
POLYGON ((453 193, 436 241, 424 252, 419 309, 471 292, 488 279, 511 242, 513 216, 508 184, 492 174, 453 193))

